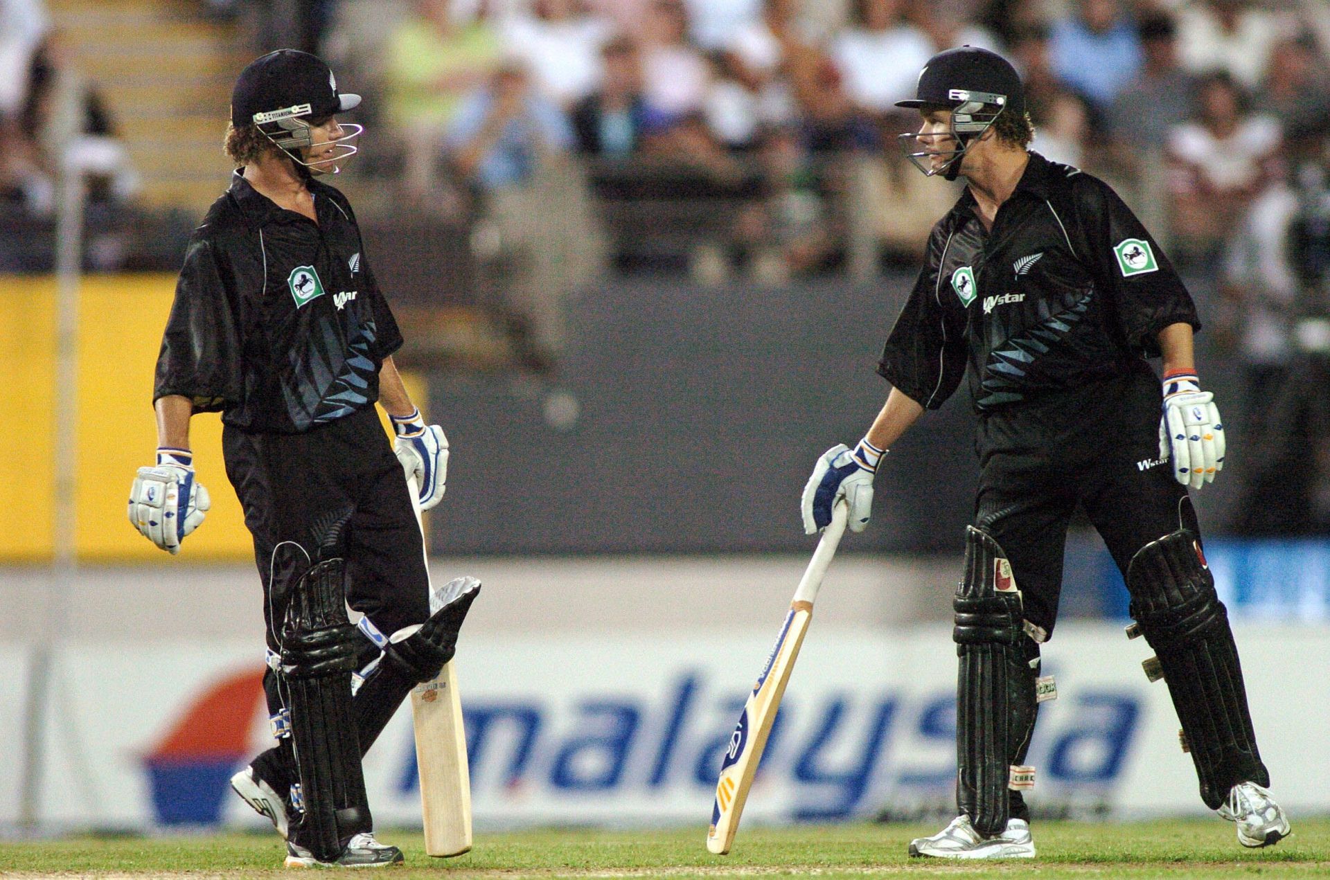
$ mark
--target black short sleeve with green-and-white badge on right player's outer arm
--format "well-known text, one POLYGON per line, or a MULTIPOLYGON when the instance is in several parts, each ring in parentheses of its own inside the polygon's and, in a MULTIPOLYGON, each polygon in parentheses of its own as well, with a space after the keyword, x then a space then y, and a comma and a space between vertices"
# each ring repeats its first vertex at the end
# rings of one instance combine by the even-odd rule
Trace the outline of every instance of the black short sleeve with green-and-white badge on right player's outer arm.
POLYGON ((1158 332, 1169 324, 1201 328, 1172 261, 1112 187, 1085 175, 1076 209, 1091 269, 1132 350, 1153 358, 1160 354, 1158 332))

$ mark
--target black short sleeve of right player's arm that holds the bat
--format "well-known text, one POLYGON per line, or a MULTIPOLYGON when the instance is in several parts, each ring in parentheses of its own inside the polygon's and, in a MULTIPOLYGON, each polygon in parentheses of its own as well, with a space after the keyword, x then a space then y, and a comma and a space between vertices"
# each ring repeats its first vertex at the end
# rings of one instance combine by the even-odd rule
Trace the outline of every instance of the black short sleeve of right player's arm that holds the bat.
POLYGON ((964 326, 938 299, 942 237, 934 230, 923 270, 896 318, 878 362, 878 375, 928 409, 936 409, 966 375, 964 326))

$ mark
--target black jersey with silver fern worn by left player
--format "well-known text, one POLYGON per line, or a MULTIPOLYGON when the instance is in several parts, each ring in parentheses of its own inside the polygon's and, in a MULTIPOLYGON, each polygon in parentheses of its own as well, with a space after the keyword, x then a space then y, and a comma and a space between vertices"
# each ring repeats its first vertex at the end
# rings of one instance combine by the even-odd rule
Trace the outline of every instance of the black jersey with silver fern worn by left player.
POLYGON ((184 395, 243 431, 297 433, 378 400, 402 335, 351 205, 309 189, 318 223, 233 175, 185 251, 154 401, 184 395))

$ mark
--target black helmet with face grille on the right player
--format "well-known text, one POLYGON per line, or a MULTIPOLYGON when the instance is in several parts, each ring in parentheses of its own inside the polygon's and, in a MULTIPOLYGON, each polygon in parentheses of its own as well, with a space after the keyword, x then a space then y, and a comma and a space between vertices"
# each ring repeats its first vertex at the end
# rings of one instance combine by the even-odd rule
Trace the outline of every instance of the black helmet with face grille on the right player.
POLYGON ((1025 113, 1025 90, 1016 68, 1007 58, 988 49, 963 45, 928 58, 919 72, 915 97, 896 101, 896 106, 951 109, 951 137, 956 149, 930 149, 924 138, 938 136, 922 138, 918 132, 906 132, 898 140, 906 157, 926 175, 944 173, 948 181, 954 181, 960 173, 960 157, 1000 114, 1025 113), (947 161, 934 169, 927 164, 934 156, 943 156, 947 161))

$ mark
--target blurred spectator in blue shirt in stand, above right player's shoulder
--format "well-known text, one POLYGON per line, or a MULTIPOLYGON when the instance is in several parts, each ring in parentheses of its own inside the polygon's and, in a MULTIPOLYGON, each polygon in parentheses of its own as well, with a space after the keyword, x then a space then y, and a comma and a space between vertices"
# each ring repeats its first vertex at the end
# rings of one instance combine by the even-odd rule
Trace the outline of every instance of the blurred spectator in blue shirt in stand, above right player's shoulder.
POLYGON ((1120 0, 1080 0, 1079 15, 1053 23, 1053 73, 1097 108, 1107 108, 1141 66, 1141 44, 1120 0))

